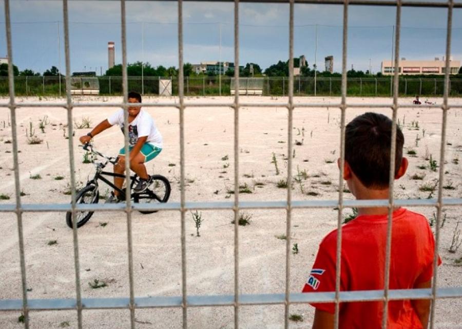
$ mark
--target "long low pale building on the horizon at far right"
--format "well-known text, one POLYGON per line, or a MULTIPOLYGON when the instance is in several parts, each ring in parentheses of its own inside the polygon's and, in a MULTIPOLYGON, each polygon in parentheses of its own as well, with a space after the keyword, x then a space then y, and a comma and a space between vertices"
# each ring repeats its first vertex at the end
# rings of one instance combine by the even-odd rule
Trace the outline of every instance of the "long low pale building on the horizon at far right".
MULTIPOLYGON (((457 74, 459 72, 460 61, 449 61, 449 74, 457 74)), ((381 72, 383 75, 392 75, 394 73, 394 62, 382 61, 381 72)), ((406 75, 444 75, 446 74, 446 61, 443 57, 440 61, 435 57, 434 61, 408 61, 401 58, 398 61, 398 74, 406 75)))

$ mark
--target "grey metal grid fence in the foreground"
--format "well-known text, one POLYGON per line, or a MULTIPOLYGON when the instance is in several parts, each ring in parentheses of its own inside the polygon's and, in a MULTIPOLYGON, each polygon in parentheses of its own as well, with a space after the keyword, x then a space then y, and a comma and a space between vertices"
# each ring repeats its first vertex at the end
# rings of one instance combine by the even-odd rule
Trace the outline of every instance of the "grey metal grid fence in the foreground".
MULTIPOLYGON (((271 2, 266 0, 252 0, 255 3, 271 2)), ((278 1, 281 2, 281 1, 278 1)), ((290 29, 289 29, 289 47, 288 54, 290 58, 290 76, 287 81, 287 103, 285 104, 288 114, 288 125, 287 125, 287 140, 292 141, 293 132, 293 111, 294 108, 312 108, 312 107, 326 107, 323 104, 314 103, 297 103, 294 104, 294 85, 296 80, 293 76, 293 40, 294 40, 294 0, 286 1, 290 7, 290 29)), ((411 105, 399 105, 398 104, 398 90, 401 88, 399 84, 399 78, 397 74, 398 59, 399 59, 399 36, 401 26, 401 8, 405 6, 409 7, 435 7, 435 8, 446 8, 448 11, 448 22, 447 22, 447 46, 446 46, 446 66, 449 67, 449 59, 451 55, 451 26, 452 26, 452 13, 454 8, 462 8, 462 3, 454 3, 452 0, 449 2, 432 2, 432 1, 393 1, 393 0, 353 0, 353 1, 339 1, 339 0, 297 0, 297 3, 316 3, 316 4, 337 4, 343 5, 343 48, 342 48, 342 78, 341 78, 341 101, 338 104, 330 104, 330 107, 338 107, 341 111, 341 122, 340 122, 340 173, 338 177, 339 186, 342 186, 343 176, 343 162, 344 162, 344 132, 345 132, 345 112, 349 107, 362 107, 362 108, 388 108, 389 104, 352 104, 347 103, 347 35, 348 35, 348 8, 352 5, 380 5, 380 6, 393 6, 396 7, 396 32, 395 32, 395 75, 392 80, 393 87, 393 104, 391 109, 393 111, 393 122, 397 122, 397 111, 398 108, 411 107, 411 105)), ((441 134, 441 146, 440 146, 440 168, 439 168, 439 184, 437 189, 437 198, 435 199, 407 199, 398 200, 393 197, 393 179, 390 179, 390 195, 388 200, 355 200, 346 201, 343 200, 343 191, 339 189, 337 200, 311 200, 311 201, 293 201, 292 200, 292 189, 293 175, 292 175, 292 159, 288 157, 287 160, 287 197, 285 200, 279 202, 241 202, 239 200, 239 112, 241 107, 281 107, 281 104, 264 104, 264 103, 242 103, 239 99, 239 93, 234 96, 234 102, 232 103, 221 103, 213 104, 214 107, 222 108, 233 108, 234 109, 234 185, 235 191, 234 200, 232 202, 204 202, 195 203, 187 202, 185 199, 185 138, 184 138, 184 110, 189 106, 196 107, 208 107, 210 104, 207 103, 185 103, 184 90, 185 84, 183 79, 183 72, 179 72, 178 82, 178 97, 179 103, 176 104, 180 118, 180 179, 181 179, 181 194, 179 203, 168 203, 163 205, 138 205, 132 204, 128 199, 125 205, 81 205, 75 203, 75 191, 72 191, 72 203, 71 205, 63 204, 23 204, 21 202, 20 193, 20 170, 21 166, 18 163, 17 151, 17 129, 16 129, 16 109, 20 106, 16 103, 15 99, 15 80, 13 77, 13 49, 11 40, 11 21, 10 21, 10 1, 4 0, 5 4, 5 22, 6 22, 6 35, 7 35, 7 46, 8 46, 8 83, 9 83, 9 103, 2 105, 4 108, 9 108, 11 113, 11 125, 12 125, 12 144, 13 144, 13 161, 14 161, 14 182, 15 182, 15 203, 12 205, 0 205, 0 212, 15 213, 17 218, 18 227, 18 242, 20 251, 20 264, 21 264, 21 279, 22 279, 22 291, 23 296, 21 300, 0 300, 0 311, 6 310, 21 310, 25 315, 25 327, 29 328, 29 311, 30 310, 58 310, 58 309, 75 309, 78 315, 78 326, 82 327, 82 310, 83 309, 99 309, 99 308, 125 308, 129 309, 130 312, 130 325, 132 328, 135 327, 134 314, 137 308, 153 308, 153 307, 181 307, 183 310, 182 324, 183 327, 188 327, 187 310, 193 306, 233 306, 234 307, 234 326, 239 327, 239 314, 240 307, 242 305, 268 305, 268 304, 281 304, 285 309, 284 323, 285 327, 288 327, 288 309, 291 304, 295 303, 308 303, 308 302, 335 302, 336 313, 335 313, 335 326, 338 326, 339 320, 339 303, 346 301, 383 301, 383 324, 382 328, 386 327, 386 319, 388 312, 388 301, 396 299, 431 299, 433 301, 431 308, 431 322, 430 326, 434 327, 434 315, 435 315, 435 302, 439 298, 461 298, 462 287, 454 288, 441 288, 438 287, 438 267, 437 267, 437 252, 435 252, 434 259, 434 277, 433 286, 431 289, 405 289, 405 290, 391 290, 389 289, 389 268, 390 268, 390 250, 391 250, 391 215, 394 206, 428 206, 435 207, 437 210, 436 215, 436 229, 435 239, 436 245, 435 250, 439 248, 440 240, 440 221, 441 221, 441 209, 443 206, 462 206, 462 198, 447 199, 442 197, 442 182, 444 181, 445 173, 445 148, 446 143, 446 125, 447 125, 447 113, 450 109, 448 104, 449 96, 449 72, 446 73, 444 80, 444 99, 442 104, 429 105, 428 107, 440 108, 442 115, 442 134, 441 134), (289 282, 291 279, 290 273, 290 254, 291 254, 291 219, 292 210, 297 208, 332 208, 338 207, 338 218, 337 227, 339 230, 337 240, 337 277, 336 277, 336 291, 332 293, 310 293, 300 294, 292 293, 289 288, 289 282), (373 290, 373 291, 340 291, 340 250, 341 250, 341 228, 342 228, 342 210, 345 207, 388 207, 389 208, 389 223, 388 223, 388 245, 387 245, 387 262, 384 268, 384 289, 373 290), (133 281, 136 280, 133 276, 133 253, 132 253, 132 231, 131 231, 131 215, 133 210, 177 210, 181 217, 181 260, 182 260, 182 295, 178 297, 136 297, 134 296, 133 281), (229 209, 234 211, 234 294, 233 295, 218 295, 218 296, 189 296, 187 292, 187 275, 186 275, 186 246, 185 246, 185 212, 189 209, 229 209), (240 209, 285 209, 286 210, 286 266, 285 266, 285 291, 282 294, 261 294, 261 295, 242 295, 239 293, 240 282, 239 282, 239 226, 238 216, 240 209), (70 211, 75 215, 75 211, 78 210, 111 210, 111 211, 125 211, 127 214, 127 246, 128 246, 128 272, 129 272, 129 287, 130 294, 125 298, 92 298, 82 299, 81 297, 81 286, 80 286, 80 258, 79 258, 79 239, 77 229, 75 227, 76 221, 73 221, 73 242, 74 242, 74 265, 75 265, 75 299, 37 299, 29 300, 27 297, 27 272, 26 262, 24 255, 24 233, 22 216, 24 212, 32 211, 70 211)), ((234 63, 236 67, 239 66, 239 1, 234 2, 234 35, 235 35, 235 59, 234 63)), ((88 107, 88 106, 120 106, 127 108, 127 92, 128 92, 128 77, 126 75, 127 59, 126 59, 126 22, 125 22, 125 5, 124 0, 121 1, 121 26, 122 26, 122 54, 123 54, 123 78, 122 78, 122 92, 123 102, 116 104, 109 103, 73 103, 69 88, 69 83, 66 84, 66 99, 67 102, 63 104, 59 103, 21 103, 24 107, 65 107, 67 109, 67 118, 69 123, 69 135, 72 135, 72 111, 74 107, 88 107)), ((69 21, 68 21, 68 1, 63 0, 63 17, 64 17, 64 38, 65 38, 65 56, 66 56, 66 80, 70 79, 70 49, 69 49, 69 21)), ((178 48, 179 48, 179 67, 183 67, 183 2, 178 1, 178 48)), ((239 89, 239 72, 235 72, 236 78, 236 89, 239 89)), ((171 106, 171 104, 162 103, 143 103, 143 106, 159 107, 159 106, 171 106)), ((127 115, 125 115, 127 120, 127 115)), ((125 121, 127 123, 127 121, 125 121)), ((125 130, 128 125, 125 124, 125 130)), ((396 136, 396 124, 393 125, 392 131, 392 152, 391 161, 394 161, 395 154, 395 136, 396 136)), ((125 147, 128 147, 128 134, 125 131, 125 147)), ((292 154, 293 143, 287 143, 287 154, 292 154)), ((71 185, 75 186, 75 174, 74 174, 74 149, 72 140, 69 139, 69 168, 71 175, 71 185)), ((390 166, 390 177, 394 177, 394 166, 390 166)), ((129 173, 128 162, 126 162, 126 173, 129 173)), ((129 186, 129 184, 127 184, 129 186)))

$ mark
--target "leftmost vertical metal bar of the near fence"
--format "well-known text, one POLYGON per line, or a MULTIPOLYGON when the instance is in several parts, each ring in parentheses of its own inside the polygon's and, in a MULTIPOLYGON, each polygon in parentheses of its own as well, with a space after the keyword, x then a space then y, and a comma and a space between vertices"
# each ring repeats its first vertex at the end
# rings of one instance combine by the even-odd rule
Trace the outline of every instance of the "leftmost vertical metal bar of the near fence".
POLYGON ((7 39, 8 51, 8 87, 10 101, 8 107, 11 112, 11 137, 13 139, 13 167, 14 167, 14 187, 16 196, 16 219, 17 219, 17 235, 20 251, 21 265, 21 287, 23 295, 24 327, 29 328, 29 309, 27 301, 27 280, 26 280, 26 260, 24 257, 24 232, 23 232, 23 211, 21 206, 21 185, 19 175, 19 162, 17 159, 17 129, 16 129, 16 104, 14 101, 14 73, 13 73, 13 47, 11 41, 11 21, 10 21, 10 1, 5 0, 5 31, 7 39))

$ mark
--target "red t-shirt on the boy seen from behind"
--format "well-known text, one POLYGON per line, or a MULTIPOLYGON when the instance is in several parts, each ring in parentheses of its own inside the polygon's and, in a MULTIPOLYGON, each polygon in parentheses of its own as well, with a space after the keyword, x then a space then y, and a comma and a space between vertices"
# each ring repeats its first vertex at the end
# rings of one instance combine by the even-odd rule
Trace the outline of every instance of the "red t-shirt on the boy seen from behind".
MULTIPOLYGON (((340 290, 384 288, 388 214, 360 215, 342 228, 340 290)), ((303 293, 335 291, 337 230, 319 246, 303 293)), ((425 216, 404 208, 393 212, 390 289, 413 288, 433 275, 435 240, 425 216)), ((439 260, 439 263, 441 261, 439 260)), ((335 303, 312 303, 335 312, 335 303)), ((410 300, 390 301, 388 328, 422 328, 410 300)), ((340 303, 339 328, 381 327, 383 302, 340 303)))

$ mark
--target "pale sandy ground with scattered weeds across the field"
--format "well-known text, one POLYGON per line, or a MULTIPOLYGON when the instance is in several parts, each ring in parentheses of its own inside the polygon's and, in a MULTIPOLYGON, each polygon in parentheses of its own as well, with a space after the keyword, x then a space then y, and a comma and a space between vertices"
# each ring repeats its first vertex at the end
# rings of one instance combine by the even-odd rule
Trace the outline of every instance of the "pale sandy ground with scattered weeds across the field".
MULTIPOLYGON (((98 101, 107 100, 100 98, 98 101)), ((120 101, 120 98, 108 101, 120 101)), ((279 102, 284 98, 242 97, 246 102, 279 102)), ((3 103, 7 99, 0 100, 3 103)), ((38 99, 20 99, 21 102, 38 99)), ((44 99, 41 102, 56 102, 44 99)), ((63 100, 61 100, 63 101, 63 100)), ((85 101, 80 99, 76 101, 85 101)), ((151 98, 144 101, 159 102, 175 99, 151 98)), ((187 98, 189 102, 232 102, 233 98, 187 98)), ((339 98, 296 98, 296 102, 336 103, 339 98)), ((410 104, 411 98, 399 100, 410 104)), ((432 99, 441 102, 441 99, 432 99)), ((391 103, 391 99, 356 98, 352 103, 391 103)), ((451 104, 462 104, 462 99, 451 99, 451 104)), ((115 108, 75 108, 74 120, 81 122, 90 118, 94 126, 110 115, 115 108)), ((68 203, 69 195, 63 192, 69 187, 69 156, 67 113, 62 108, 25 108, 17 110, 18 154, 22 202, 25 204, 68 203), (47 116, 49 124, 45 133, 38 129, 38 122, 47 116), (26 129, 29 125, 35 135, 43 139, 41 144, 28 144, 26 129), (32 179, 40 174, 40 179, 32 179), (56 180, 62 176, 64 179, 56 180)), ((170 200, 179 202, 180 143, 179 114, 175 107, 147 108, 155 118, 164 136, 164 150, 158 158, 148 163, 151 173, 162 174, 171 181, 170 200)), ((365 112, 364 108, 349 108, 347 121, 365 112)), ((390 110, 381 110, 391 115, 390 110)), ((1 204, 14 202, 14 179, 12 139, 9 110, 0 108, 0 194, 11 198, 0 200, 1 204)), ((428 166, 425 158, 432 156, 439 164, 441 140, 441 110, 422 107, 402 108, 398 118, 405 134, 405 153, 410 166, 407 175, 396 182, 397 198, 427 198, 430 192, 422 192, 422 185, 434 185, 437 172, 419 169, 428 166), (414 174, 424 176, 422 180, 411 179, 414 174)), ((338 196, 339 155, 338 108, 297 108, 294 111, 293 174, 306 172, 301 184, 294 184, 293 200, 336 199, 338 196), (295 142, 302 142, 295 145, 295 142), (307 195, 308 192, 318 195, 307 195)), ((185 173, 187 201, 233 200, 227 192, 234 184, 234 112, 229 108, 187 108, 185 111, 185 173)), ((445 197, 461 197, 462 159, 462 109, 451 109, 448 113, 447 143, 445 145, 445 197)), ((278 188, 277 182, 287 175, 287 109, 245 107, 240 111, 239 123, 239 173, 240 182, 252 193, 241 194, 241 200, 284 200, 287 191, 278 188), (280 171, 276 175, 273 153, 280 171)), ((76 178, 84 183, 94 172, 91 164, 82 163, 83 152, 77 148, 78 137, 89 130, 76 130, 74 137, 76 178)), ((111 130, 95 138, 97 148, 114 155, 121 148, 123 136, 119 129, 111 130)), ((101 193, 105 193, 101 187, 101 193)), ((351 199, 351 194, 345 194, 351 199)), ((102 201, 100 201, 102 202, 102 201)), ((432 218, 436 209, 412 208, 432 218)), ((285 233, 284 210, 249 210, 250 224, 240 226, 240 291, 242 294, 283 293, 285 286, 285 240, 276 236, 285 233)), ((351 210, 346 210, 345 215, 351 210)), ((234 226, 231 211, 202 211, 204 222, 200 237, 190 213, 186 214, 187 291, 189 295, 232 295, 234 293, 234 226)), ((461 221, 460 207, 445 207, 446 221, 441 229, 439 252, 443 264, 438 271, 438 283, 443 287, 462 286, 462 248, 455 253, 448 251, 456 223, 461 221)), ((21 271, 18 257, 17 224, 13 213, 0 214, 0 298, 20 299, 21 271)), ((136 296, 180 296, 181 295, 181 244, 180 214, 178 211, 161 211, 143 215, 134 212, 133 265, 136 296)), ((65 213, 24 213, 24 239, 26 255, 27 286, 30 299, 74 298, 75 275, 73 262, 72 231, 65 223, 65 213), (56 240, 56 244, 48 242, 56 240)), ((292 214, 292 241, 298 244, 299 252, 291 255, 291 292, 297 293, 303 286, 311 269, 317 246, 322 237, 336 228, 337 212, 333 209, 296 209, 292 214)), ((459 228, 462 223, 459 225, 459 228)), ((127 224, 124 213, 97 212, 79 229, 82 297, 127 297, 128 257, 127 224), (107 223, 102 226, 101 223, 107 223), (89 282, 103 280, 107 287, 92 289, 89 282)), ((436 304, 436 328, 462 328, 460 324, 462 300, 438 300, 436 304), (458 311, 458 312, 457 312, 458 311)), ((313 308, 309 305, 292 305, 291 314, 303 317, 302 322, 291 322, 291 328, 310 327, 313 308)), ((20 312, 1 312, 0 328, 16 328, 20 312)), ((242 306, 240 325, 242 328, 282 328, 284 308, 276 306, 242 306)), ((55 328, 69 324, 76 327, 75 311, 31 312, 32 328, 55 328)), ((136 311, 139 328, 178 328, 182 312, 179 308, 140 309, 136 311)), ((85 310, 85 327, 127 328, 128 310, 85 310)), ((188 311, 190 328, 232 328, 232 307, 200 307, 188 311)))

